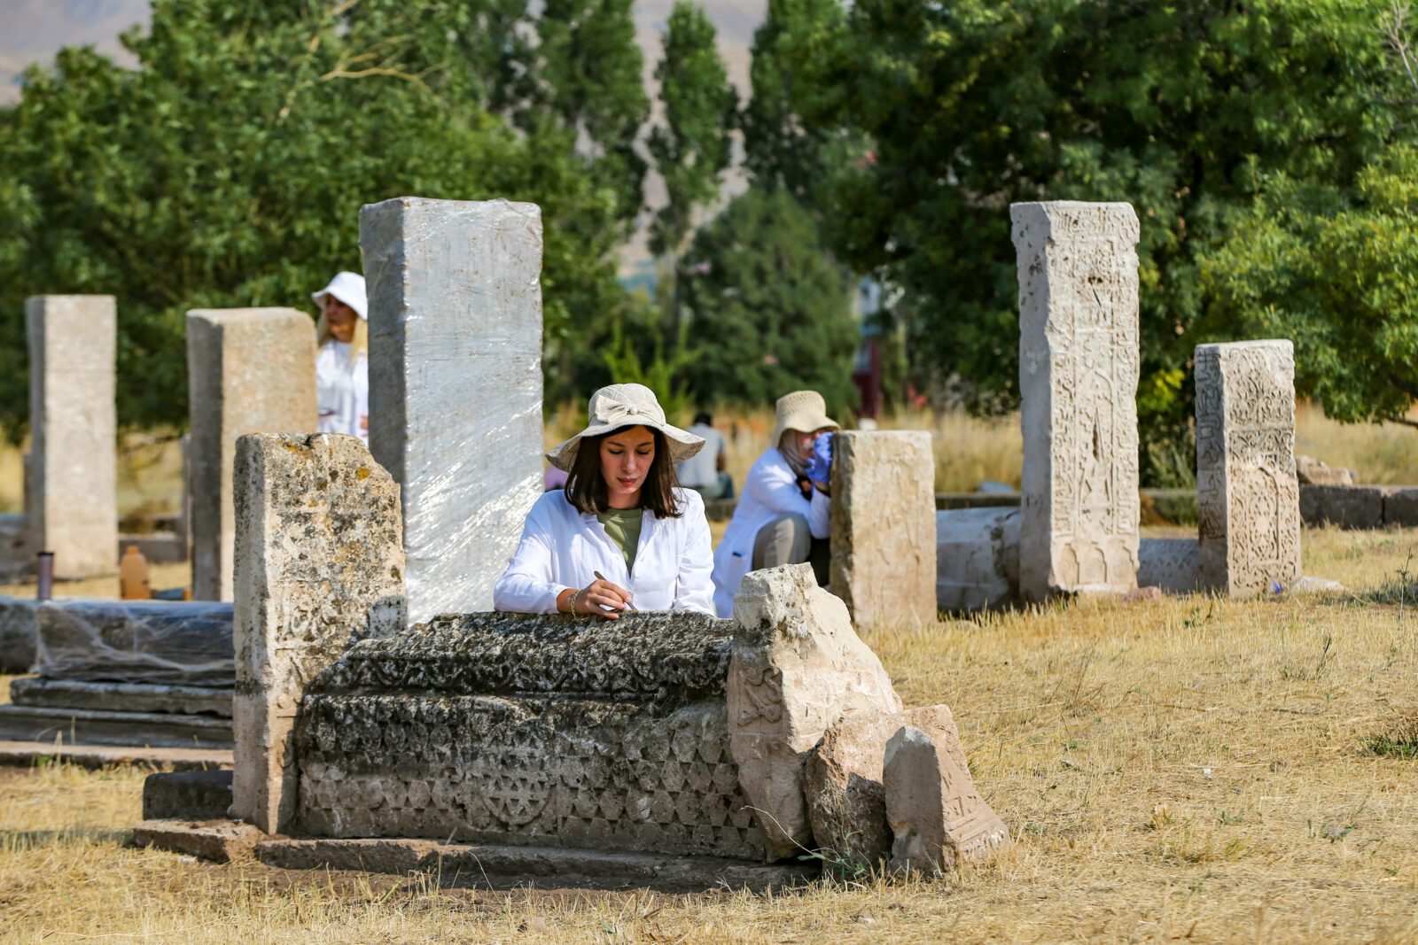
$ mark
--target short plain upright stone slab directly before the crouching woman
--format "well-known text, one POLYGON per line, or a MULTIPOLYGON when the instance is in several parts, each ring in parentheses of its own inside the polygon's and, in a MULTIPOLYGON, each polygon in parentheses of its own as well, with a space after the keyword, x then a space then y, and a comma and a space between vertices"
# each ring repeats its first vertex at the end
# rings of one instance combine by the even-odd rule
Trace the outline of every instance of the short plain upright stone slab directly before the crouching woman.
POLYGON ((926 431, 832 436, 832 594, 858 626, 936 621, 934 482, 926 431))

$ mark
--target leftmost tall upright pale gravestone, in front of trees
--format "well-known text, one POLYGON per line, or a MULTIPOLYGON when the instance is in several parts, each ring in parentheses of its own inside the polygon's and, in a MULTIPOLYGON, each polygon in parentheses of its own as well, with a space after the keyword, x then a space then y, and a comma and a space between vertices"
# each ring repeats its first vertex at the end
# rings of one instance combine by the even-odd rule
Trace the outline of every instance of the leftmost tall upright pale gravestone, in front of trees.
POLYGON ((30 336, 28 533, 54 553, 54 577, 118 568, 111 295, 40 295, 24 303, 30 336))

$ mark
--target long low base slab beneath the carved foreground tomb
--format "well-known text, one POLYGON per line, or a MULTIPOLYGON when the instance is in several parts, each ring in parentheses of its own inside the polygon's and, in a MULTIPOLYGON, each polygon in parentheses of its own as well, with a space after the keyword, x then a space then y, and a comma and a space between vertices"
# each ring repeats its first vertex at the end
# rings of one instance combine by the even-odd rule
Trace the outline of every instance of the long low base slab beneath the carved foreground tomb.
POLYGON ((761 893, 813 881, 815 864, 763 864, 700 856, 607 853, 567 847, 440 843, 417 839, 291 840, 257 844, 257 859, 286 870, 432 873, 452 885, 512 888, 635 888, 693 893, 746 888, 761 893))

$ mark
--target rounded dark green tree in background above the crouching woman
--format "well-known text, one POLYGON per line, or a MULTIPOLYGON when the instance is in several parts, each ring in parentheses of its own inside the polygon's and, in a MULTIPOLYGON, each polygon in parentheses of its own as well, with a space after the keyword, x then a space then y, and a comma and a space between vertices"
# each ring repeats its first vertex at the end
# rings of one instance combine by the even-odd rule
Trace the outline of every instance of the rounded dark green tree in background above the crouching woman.
POLYGON ((856 402, 852 282, 791 194, 736 197, 695 234, 681 272, 700 402, 763 405, 797 388, 837 414, 856 402))

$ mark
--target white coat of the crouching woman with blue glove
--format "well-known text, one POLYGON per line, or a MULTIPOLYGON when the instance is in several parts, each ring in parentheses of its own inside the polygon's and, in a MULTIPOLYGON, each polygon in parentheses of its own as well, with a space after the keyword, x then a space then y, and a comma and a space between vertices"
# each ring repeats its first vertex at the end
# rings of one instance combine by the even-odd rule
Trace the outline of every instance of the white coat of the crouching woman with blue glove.
POLYGON ((719 616, 733 616, 733 595, 753 564, 753 543, 759 530, 781 514, 795 511, 807 519, 814 538, 825 538, 832 502, 813 490, 811 502, 797 487, 793 468, 777 448, 759 456, 739 492, 739 504, 713 553, 713 604, 719 616))

